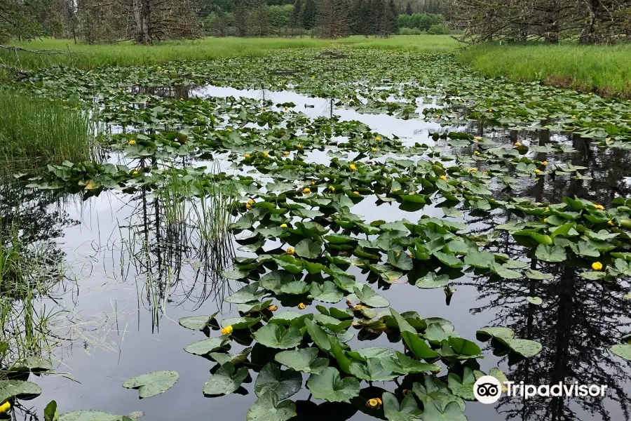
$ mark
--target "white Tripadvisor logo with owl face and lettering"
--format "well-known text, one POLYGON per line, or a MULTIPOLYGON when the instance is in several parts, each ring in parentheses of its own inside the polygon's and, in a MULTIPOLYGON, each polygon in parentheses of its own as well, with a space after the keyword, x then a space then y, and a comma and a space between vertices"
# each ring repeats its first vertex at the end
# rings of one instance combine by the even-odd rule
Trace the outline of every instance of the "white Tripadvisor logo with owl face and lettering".
POLYGON ((504 382, 502 385, 495 377, 484 375, 477 379, 473 385, 473 395, 482 403, 496 403, 502 396, 502 389, 506 392, 506 396, 519 396, 524 399, 530 399, 534 396, 585 398, 587 396, 603 397, 607 387, 605 385, 579 385, 578 382, 569 385, 559 382, 556 385, 541 386, 524 385, 524 382, 504 382))

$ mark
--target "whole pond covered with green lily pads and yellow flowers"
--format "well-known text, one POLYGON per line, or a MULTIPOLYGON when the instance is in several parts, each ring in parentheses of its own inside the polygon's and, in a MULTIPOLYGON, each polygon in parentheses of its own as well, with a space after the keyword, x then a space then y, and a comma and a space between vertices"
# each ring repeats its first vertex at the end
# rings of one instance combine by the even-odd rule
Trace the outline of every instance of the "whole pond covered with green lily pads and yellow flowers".
POLYGON ((3 298, 15 419, 629 419, 630 102, 372 50, 21 88, 105 131, 0 187, 36 280, 3 298), (607 389, 485 405, 486 375, 607 389))

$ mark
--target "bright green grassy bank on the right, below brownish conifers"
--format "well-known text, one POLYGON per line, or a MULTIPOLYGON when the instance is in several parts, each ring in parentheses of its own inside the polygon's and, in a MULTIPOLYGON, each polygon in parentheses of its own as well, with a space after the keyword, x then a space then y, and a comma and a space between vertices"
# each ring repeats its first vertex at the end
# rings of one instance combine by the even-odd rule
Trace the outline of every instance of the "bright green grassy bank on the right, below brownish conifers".
POLYGON ((459 55, 484 76, 631 98, 631 44, 483 45, 459 55))

